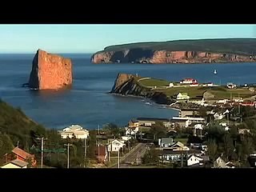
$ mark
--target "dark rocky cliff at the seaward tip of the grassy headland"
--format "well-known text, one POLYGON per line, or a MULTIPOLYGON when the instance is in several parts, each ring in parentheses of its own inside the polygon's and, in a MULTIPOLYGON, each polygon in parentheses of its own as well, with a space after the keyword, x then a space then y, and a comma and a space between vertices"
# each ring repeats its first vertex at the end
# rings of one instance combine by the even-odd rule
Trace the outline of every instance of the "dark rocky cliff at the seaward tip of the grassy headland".
POLYGON ((133 74, 118 74, 110 93, 150 98, 152 101, 159 104, 175 102, 173 99, 167 97, 166 94, 152 91, 149 88, 141 86, 133 74))

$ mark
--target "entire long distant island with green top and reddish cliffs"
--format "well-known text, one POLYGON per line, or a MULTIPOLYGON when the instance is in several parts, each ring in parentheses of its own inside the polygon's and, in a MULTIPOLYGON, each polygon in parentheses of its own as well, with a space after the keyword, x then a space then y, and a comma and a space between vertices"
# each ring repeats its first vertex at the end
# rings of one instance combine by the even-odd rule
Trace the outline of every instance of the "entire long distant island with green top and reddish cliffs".
POLYGON ((94 63, 256 62, 256 38, 142 42, 108 46, 95 53, 94 63))

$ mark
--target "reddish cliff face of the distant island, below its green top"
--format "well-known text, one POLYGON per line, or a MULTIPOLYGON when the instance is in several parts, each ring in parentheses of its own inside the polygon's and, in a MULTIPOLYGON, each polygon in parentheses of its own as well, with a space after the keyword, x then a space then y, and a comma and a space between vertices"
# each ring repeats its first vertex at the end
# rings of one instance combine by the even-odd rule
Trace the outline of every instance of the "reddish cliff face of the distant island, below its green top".
POLYGON ((138 63, 195 63, 195 62, 254 62, 250 56, 202 51, 168 50, 118 50, 100 51, 94 54, 91 62, 138 62, 138 63))

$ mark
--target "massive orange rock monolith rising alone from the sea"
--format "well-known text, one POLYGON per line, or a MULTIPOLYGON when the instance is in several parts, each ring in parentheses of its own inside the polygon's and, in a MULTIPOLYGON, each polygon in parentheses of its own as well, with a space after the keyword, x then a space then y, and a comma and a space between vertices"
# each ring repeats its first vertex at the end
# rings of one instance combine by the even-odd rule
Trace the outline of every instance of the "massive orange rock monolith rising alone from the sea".
POLYGON ((72 84, 72 62, 58 54, 38 50, 34 55, 29 87, 37 90, 58 90, 72 84))

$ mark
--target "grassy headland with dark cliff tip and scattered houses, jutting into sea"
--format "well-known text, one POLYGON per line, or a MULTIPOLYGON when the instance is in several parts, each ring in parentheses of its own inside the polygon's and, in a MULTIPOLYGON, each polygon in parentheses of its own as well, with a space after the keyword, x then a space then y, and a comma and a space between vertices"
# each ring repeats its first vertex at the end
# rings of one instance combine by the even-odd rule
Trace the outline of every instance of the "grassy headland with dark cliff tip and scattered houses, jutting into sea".
POLYGON ((234 83, 216 85, 184 78, 180 82, 140 77, 138 74, 118 74, 110 94, 141 96, 153 102, 172 106, 175 103, 205 104, 225 102, 228 99, 248 100, 255 97, 254 85, 238 86, 234 83))

